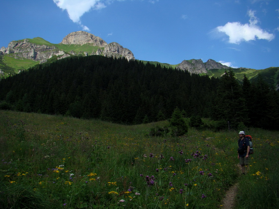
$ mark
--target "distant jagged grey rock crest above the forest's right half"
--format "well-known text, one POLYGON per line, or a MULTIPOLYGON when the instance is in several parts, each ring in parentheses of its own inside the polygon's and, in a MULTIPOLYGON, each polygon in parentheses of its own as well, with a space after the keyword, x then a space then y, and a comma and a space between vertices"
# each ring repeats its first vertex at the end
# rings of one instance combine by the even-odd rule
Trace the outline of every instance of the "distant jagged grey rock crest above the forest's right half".
POLYGON ((190 73, 200 74, 207 73, 207 70, 211 69, 228 69, 231 67, 217 63, 212 59, 207 60, 206 63, 203 63, 201 59, 191 59, 182 61, 182 63, 180 63, 177 68, 184 71, 187 70, 190 73))

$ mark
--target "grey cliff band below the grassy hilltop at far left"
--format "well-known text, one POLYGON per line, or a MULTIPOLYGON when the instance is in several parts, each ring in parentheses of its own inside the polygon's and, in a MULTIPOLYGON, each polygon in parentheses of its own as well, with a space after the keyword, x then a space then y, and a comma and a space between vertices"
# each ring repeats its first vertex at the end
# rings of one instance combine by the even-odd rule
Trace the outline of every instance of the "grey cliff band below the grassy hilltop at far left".
MULTIPOLYGON (((1 50, 3 50, 3 47, 1 50)), ((55 46, 30 43, 28 39, 24 39, 23 41, 11 41, 8 47, 5 48, 4 53, 16 59, 25 58, 39 61, 45 58, 48 59, 52 54, 58 52, 59 50, 55 46)))

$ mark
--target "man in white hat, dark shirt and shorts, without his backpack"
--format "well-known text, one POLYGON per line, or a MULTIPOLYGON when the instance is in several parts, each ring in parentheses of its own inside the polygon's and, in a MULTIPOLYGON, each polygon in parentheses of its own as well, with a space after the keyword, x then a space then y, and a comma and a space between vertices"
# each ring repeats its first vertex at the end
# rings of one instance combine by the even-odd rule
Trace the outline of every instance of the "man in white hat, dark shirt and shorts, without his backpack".
POLYGON ((250 144, 249 139, 245 137, 245 132, 240 131, 238 133, 238 150, 237 150, 237 158, 239 159, 239 164, 241 165, 241 172, 245 175, 245 167, 249 164, 249 151, 250 144))

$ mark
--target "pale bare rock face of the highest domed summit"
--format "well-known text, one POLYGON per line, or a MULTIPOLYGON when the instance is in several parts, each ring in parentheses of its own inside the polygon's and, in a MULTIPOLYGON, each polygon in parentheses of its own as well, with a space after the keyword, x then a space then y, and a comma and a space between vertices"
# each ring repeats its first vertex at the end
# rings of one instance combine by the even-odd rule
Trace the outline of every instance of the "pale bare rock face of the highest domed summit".
POLYGON ((79 44, 83 45, 86 43, 93 43, 94 46, 104 47, 107 44, 103 39, 100 37, 94 36, 91 33, 87 33, 85 31, 77 31, 68 34, 66 37, 63 38, 61 44, 79 44))

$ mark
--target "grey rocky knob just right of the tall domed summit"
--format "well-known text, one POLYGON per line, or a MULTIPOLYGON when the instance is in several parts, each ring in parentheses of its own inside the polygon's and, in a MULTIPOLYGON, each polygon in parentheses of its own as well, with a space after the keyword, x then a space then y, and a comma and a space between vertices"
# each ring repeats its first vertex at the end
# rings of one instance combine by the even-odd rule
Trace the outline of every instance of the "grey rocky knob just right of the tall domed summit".
POLYGON ((123 48, 116 42, 112 42, 104 47, 104 56, 113 56, 116 58, 126 57, 128 60, 135 59, 134 54, 130 50, 123 48))

